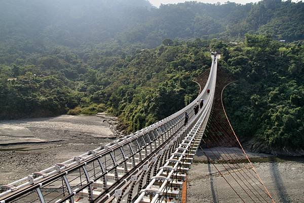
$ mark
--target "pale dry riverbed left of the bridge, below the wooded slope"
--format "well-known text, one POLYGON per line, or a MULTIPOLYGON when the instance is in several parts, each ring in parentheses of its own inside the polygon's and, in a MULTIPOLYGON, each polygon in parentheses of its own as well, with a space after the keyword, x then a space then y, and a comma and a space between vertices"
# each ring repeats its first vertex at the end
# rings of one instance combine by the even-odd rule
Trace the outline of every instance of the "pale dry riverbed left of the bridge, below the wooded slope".
POLYGON ((104 113, 0 121, 0 185, 122 136, 117 125, 104 113))

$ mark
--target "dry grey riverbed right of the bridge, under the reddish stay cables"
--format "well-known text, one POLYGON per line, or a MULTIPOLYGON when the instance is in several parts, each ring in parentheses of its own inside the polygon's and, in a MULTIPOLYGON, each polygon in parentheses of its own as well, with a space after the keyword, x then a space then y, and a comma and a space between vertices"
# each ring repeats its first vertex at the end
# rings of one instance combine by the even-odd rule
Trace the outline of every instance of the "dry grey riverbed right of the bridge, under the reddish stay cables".
MULTIPOLYGON (((199 156, 195 158, 195 163, 192 165, 188 175, 187 202, 243 202, 212 164, 199 163, 201 161, 205 162, 205 158, 201 153, 198 154, 199 156)), ((304 202, 304 158, 279 158, 266 154, 260 154, 258 156, 256 153, 249 153, 249 156, 255 161, 253 165, 276 203, 304 202)), ((242 163, 240 163, 240 165, 243 166, 242 163)), ((245 202, 253 202, 234 181, 232 175, 236 179, 238 178, 229 167, 227 168, 232 175, 226 172, 221 164, 217 163, 215 166, 226 180, 237 189, 245 202)), ((241 175, 239 176, 242 177, 241 175)), ((241 181, 239 182, 243 184, 241 181)), ((244 182, 246 183, 246 181, 244 182)), ((247 190, 245 186, 243 187, 247 190)))

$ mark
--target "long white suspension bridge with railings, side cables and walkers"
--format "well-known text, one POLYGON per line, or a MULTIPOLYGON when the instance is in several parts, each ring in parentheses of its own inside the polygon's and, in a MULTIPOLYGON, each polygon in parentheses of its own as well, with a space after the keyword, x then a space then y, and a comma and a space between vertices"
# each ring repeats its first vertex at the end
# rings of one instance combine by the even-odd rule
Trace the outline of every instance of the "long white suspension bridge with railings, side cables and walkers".
POLYGON ((149 127, 0 186, 0 203, 185 203, 187 174, 198 150, 240 202, 275 202, 223 108, 223 89, 233 81, 217 68, 220 56, 211 57, 211 68, 197 78, 200 93, 192 103, 149 127), (204 105, 195 114, 201 99, 204 105))

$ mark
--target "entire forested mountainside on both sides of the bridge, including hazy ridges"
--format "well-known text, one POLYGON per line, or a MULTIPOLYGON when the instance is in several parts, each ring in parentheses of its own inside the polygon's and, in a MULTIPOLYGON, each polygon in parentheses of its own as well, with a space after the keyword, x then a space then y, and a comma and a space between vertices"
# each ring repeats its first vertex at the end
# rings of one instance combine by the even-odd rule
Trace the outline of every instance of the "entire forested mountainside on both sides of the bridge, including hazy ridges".
POLYGON ((0 4, 0 119, 107 111, 135 131, 196 97, 213 49, 239 80, 225 100, 237 133, 303 147, 302 2, 0 4))

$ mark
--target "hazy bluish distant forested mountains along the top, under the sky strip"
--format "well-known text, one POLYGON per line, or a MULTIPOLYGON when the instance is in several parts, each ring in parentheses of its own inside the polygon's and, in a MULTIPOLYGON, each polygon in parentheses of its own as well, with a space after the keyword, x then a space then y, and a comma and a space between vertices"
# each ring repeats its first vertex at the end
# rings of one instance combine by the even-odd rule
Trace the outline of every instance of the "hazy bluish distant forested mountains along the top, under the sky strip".
POLYGON ((280 0, 246 5, 186 2, 159 9, 145 0, 3 0, 0 19, 0 40, 26 52, 109 40, 154 48, 165 38, 233 40, 247 32, 289 42, 304 39, 304 3, 280 0))

